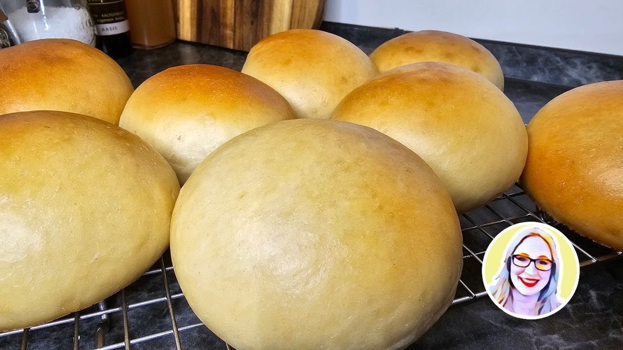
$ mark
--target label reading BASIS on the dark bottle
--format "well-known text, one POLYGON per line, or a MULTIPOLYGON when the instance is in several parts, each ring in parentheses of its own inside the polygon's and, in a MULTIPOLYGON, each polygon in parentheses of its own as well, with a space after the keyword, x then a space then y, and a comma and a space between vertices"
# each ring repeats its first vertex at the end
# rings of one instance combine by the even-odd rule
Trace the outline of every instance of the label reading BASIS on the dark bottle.
POLYGON ((124 0, 87 0, 97 35, 115 35, 130 30, 124 0))

